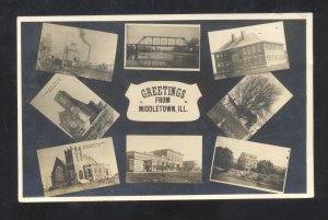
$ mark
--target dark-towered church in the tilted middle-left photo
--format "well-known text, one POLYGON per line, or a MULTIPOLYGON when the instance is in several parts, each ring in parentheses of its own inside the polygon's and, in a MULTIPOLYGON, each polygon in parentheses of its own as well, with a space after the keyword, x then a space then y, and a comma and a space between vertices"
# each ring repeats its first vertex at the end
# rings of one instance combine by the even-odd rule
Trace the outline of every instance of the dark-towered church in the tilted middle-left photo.
POLYGON ((87 104, 73 99, 65 91, 58 91, 55 101, 65 108, 59 113, 59 125, 73 138, 79 139, 102 112, 102 103, 87 104))

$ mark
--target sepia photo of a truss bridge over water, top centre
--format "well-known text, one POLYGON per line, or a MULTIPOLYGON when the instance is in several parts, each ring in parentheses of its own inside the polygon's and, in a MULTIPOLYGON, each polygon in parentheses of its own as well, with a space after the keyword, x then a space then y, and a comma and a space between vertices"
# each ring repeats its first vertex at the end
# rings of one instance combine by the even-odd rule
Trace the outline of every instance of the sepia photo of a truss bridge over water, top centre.
POLYGON ((200 25, 126 24, 125 69, 200 69, 200 25))

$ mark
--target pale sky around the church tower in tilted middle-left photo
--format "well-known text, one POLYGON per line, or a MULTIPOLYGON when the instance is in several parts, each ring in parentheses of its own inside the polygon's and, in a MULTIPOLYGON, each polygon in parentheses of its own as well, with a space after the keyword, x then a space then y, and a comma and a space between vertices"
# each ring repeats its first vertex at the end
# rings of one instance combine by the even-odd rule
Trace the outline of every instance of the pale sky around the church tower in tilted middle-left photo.
MULTIPOLYGON (((83 103, 94 101, 96 104, 98 104, 102 101, 101 97, 98 97, 78 78, 66 74, 55 74, 50 79, 50 81, 40 90, 40 92, 31 101, 31 104, 34 105, 39 112, 42 112, 57 126, 59 126, 58 113, 63 111, 63 107, 61 107, 55 101, 55 96, 60 90, 66 91, 69 95, 83 103), (49 90, 50 88, 51 90, 49 90)), ((68 134, 65 129, 62 130, 66 134, 68 134)), ((70 134, 68 135, 71 137, 70 134)))

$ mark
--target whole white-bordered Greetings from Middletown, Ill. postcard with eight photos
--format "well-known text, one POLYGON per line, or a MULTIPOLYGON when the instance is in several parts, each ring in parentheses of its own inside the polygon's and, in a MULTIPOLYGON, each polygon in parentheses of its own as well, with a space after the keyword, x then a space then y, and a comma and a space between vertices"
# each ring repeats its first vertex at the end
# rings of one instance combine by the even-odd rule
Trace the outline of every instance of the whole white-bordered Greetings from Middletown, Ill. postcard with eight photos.
POLYGON ((19 16, 16 27, 19 201, 314 197, 312 13, 19 16))

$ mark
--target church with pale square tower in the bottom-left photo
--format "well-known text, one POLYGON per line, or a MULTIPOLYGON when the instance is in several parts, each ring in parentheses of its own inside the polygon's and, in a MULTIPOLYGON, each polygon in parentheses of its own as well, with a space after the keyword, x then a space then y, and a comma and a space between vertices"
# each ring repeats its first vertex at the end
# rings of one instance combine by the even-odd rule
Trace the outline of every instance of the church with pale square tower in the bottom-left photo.
POLYGON ((84 154, 81 147, 70 147, 65 150, 65 162, 56 158, 51 172, 51 184, 52 188, 62 188, 110 177, 109 164, 97 163, 84 154))

